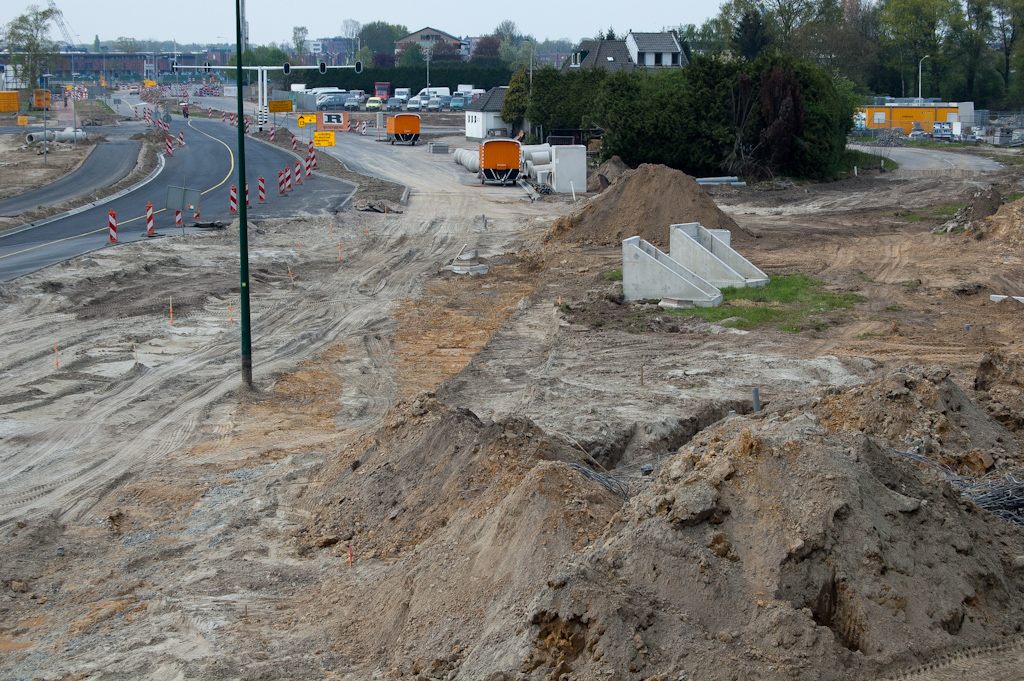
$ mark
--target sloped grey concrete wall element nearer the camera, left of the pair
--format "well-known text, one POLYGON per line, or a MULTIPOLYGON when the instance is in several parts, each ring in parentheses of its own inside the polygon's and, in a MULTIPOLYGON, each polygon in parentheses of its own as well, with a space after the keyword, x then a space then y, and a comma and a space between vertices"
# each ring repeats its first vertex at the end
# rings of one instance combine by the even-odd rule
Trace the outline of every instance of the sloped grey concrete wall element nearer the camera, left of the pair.
POLYGON ((722 303, 722 292, 639 237, 623 242, 626 301, 674 298, 697 307, 722 303))

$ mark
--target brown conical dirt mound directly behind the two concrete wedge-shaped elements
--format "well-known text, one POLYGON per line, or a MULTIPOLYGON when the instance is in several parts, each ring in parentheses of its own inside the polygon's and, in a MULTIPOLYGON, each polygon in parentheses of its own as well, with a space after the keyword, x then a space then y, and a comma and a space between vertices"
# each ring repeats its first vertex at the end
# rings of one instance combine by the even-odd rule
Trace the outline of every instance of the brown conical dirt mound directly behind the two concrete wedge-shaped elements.
POLYGON ((651 164, 624 172, 582 210, 555 220, 549 238, 614 246, 624 239, 639 236, 668 249, 669 225, 680 222, 729 229, 733 241, 750 239, 731 217, 719 210, 696 180, 680 170, 651 164))

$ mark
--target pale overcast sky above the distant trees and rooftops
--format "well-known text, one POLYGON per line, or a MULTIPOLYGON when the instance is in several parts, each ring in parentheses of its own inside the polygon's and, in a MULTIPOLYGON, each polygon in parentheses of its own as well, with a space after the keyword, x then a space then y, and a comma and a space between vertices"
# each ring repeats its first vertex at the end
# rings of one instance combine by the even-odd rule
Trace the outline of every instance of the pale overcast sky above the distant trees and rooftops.
MULTIPOLYGON (((234 41, 234 3, 230 0, 148 0, 147 2, 97 2, 55 0, 78 41, 91 43, 121 36, 138 40, 177 40, 183 43, 234 41)), ((0 23, 7 24, 30 4, 46 6, 45 0, 6 0, 0 7, 0 23)), ((430 26, 455 36, 479 36, 494 31, 510 18, 521 33, 545 38, 589 38, 599 30, 616 33, 660 31, 680 24, 701 24, 718 13, 721 0, 668 2, 648 0, 639 5, 629 0, 590 2, 282 2, 247 0, 250 43, 291 42, 292 27, 304 26, 309 38, 329 38, 340 33, 341 23, 353 18, 360 24, 384 20, 402 24, 410 31, 430 26)), ((51 37, 60 39, 58 31, 51 37)))

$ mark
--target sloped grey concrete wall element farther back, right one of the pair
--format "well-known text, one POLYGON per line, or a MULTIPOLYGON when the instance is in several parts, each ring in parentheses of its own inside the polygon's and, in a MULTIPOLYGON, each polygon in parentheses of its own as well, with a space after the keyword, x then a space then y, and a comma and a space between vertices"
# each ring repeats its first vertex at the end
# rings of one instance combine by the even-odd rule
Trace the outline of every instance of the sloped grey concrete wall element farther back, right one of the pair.
POLYGON ((767 274, 699 222, 671 225, 669 253, 673 260, 720 288, 768 284, 767 274))

